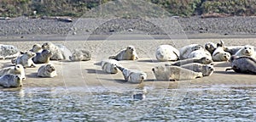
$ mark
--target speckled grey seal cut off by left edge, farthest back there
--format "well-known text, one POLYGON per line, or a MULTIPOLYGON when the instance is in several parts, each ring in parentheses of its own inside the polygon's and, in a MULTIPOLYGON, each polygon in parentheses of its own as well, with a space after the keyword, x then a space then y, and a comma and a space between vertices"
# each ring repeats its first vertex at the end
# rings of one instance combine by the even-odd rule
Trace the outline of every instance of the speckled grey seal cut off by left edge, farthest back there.
POLYGON ((0 59, 17 58, 20 51, 13 45, 0 44, 0 59))

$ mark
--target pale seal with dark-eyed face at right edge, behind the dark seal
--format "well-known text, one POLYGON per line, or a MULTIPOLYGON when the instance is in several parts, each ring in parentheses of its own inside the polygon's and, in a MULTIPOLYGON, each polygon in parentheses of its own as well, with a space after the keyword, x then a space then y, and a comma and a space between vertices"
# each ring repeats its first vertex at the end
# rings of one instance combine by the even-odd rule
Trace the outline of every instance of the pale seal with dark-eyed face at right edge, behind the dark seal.
POLYGON ((248 56, 251 58, 256 58, 256 53, 255 53, 254 47, 250 46, 250 45, 245 45, 239 51, 237 51, 235 55, 238 57, 248 56))

